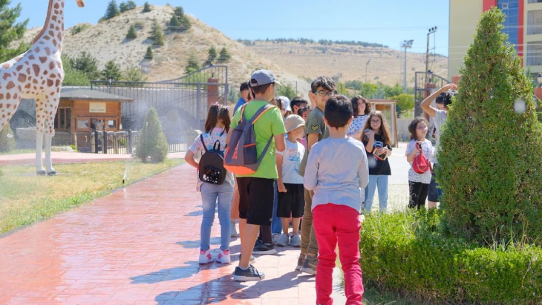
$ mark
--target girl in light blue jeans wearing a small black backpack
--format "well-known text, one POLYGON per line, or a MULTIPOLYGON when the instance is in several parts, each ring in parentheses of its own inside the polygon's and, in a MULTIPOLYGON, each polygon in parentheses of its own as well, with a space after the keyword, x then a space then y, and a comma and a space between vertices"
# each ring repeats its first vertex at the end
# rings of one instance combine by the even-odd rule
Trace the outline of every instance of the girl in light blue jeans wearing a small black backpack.
POLYGON ((227 107, 218 105, 218 103, 209 107, 209 113, 205 121, 205 133, 202 133, 194 140, 184 158, 186 163, 198 169, 197 192, 202 194, 203 220, 201 225, 201 248, 199 251, 200 264, 211 263, 215 260, 223 264, 231 262, 229 251, 231 235, 230 209, 235 180, 233 173, 227 172, 223 165, 223 152, 226 149, 226 137, 230 129, 230 123, 227 107), (198 152, 202 152, 202 158, 199 162, 194 159, 198 152), (220 164, 221 158, 222 164, 220 164), (212 161, 207 160, 214 160, 215 162, 212 163, 212 161), (215 257, 211 253, 209 243, 217 204, 221 245, 215 257))

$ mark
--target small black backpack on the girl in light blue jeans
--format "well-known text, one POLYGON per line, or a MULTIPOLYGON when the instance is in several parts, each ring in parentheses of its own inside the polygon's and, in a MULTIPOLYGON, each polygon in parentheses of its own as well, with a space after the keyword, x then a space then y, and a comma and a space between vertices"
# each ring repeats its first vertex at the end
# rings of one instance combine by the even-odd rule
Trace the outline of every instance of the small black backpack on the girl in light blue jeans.
POLYGON ((226 169, 224 168, 224 151, 220 150, 220 141, 216 140, 212 150, 208 150, 203 141, 203 135, 199 135, 199 139, 205 149, 205 153, 199 159, 199 180, 216 185, 223 184, 226 169))

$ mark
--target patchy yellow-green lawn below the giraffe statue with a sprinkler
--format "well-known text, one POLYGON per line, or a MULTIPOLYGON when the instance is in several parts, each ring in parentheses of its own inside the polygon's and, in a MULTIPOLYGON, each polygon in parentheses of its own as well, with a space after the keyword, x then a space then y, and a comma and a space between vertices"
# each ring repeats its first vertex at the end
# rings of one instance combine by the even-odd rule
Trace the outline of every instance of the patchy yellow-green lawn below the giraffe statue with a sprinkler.
POLYGON ((183 162, 182 159, 166 159, 158 164, 141 161, 59 164, 55 165, 59 175, 49 177, 36 176, 34 165, 2 166, 0 233, 73 209, 183 162))

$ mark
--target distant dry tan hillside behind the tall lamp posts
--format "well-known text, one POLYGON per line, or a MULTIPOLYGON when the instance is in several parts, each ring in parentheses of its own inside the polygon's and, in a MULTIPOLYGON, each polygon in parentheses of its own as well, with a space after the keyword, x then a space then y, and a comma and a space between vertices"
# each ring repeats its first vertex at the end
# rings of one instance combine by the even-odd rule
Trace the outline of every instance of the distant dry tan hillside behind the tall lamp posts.
MULTIPOLYGON (((322 74, 332 76, 342 73, 341 81, 365 81, 365 63, 371 59, 367 66, 368 82, 381 81, 386 85, 403 83, 404 52, 389 48, 267 41, 256 41, 255 46, 248 48, 281 67, 287 67, 288 72, 302 77, 312 79, 322 74)), ((429 66, 438 75, 446 77, 448 74, 447 57, 436 56, 435 62, 429 66)), ((414 86, 414 72, 425 70, 425 54, 408 53, 406 67, 409 86, 414 86)))

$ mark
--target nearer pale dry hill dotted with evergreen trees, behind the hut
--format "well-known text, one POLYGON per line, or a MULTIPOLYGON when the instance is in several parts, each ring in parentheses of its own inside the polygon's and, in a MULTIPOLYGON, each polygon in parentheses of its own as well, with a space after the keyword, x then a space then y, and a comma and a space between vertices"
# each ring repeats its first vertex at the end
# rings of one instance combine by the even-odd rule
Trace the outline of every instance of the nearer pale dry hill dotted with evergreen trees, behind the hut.
MULTIPOLYGON (((173 15, 173 8, 169 5, 151 6, 151 12, 143 13, 143 7, 138 7, 111 20, 91 25, 76 35, 71 34, 72 28, 66 29, 63 54, 78 56, 82 51, 86 51, 96 57, 99 67, 103 67, 109 60, 115 61, 123 70, 130 66, 141 66, 149 81, 159 81, 182 76, 191 50, 196 51, 203 63, 207 59, 209 47, 214 45, 218 51, 222 47, 228 49, 231 55, 231 60, 227 62, 229 82, 235 87, 248 80, 250 73, 256 68, 267 68, 272 70, 280 81, 293 84, 297 81, 299 92, 308 92, 310 86, 306 81, 298 79, 295 74, 288 73, 272 61, 256 55, 243 44, 231 40, 221 31, 208 27, 193 17, 190 17, 190 30, 184 33, 170 33, 166 30, 165 46, 154 47, 152 61, 143 60, 147 47, 153 42, 148 39, 153 21, 158 21, 165 29, 166 22, 173 15), (137 38, 127 40, 125 37, 128 29, 135 22, 143 22, 144 28, 138 31, 137 38)), ((40 30, 41 28, 29 29, 24 40, 31 41, 40 30)))

